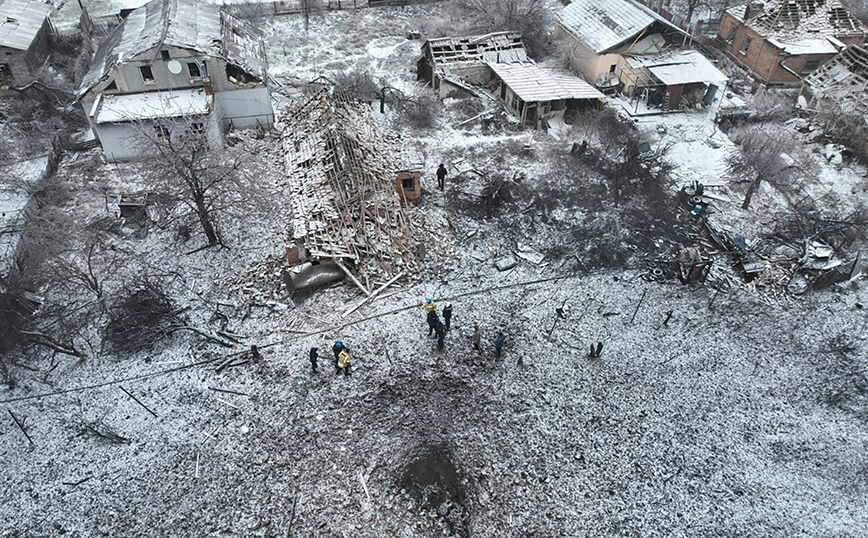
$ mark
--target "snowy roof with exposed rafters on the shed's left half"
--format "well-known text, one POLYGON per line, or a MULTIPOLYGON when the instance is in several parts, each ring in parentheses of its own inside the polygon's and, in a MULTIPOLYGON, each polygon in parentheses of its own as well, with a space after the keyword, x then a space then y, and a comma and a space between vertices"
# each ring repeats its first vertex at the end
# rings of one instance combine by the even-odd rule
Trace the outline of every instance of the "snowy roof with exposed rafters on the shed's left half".
POLYGON ((526 62, 521 34, 494 32, 469 37, 438 37, 422 45, 435 65, 453 62, 526 62))

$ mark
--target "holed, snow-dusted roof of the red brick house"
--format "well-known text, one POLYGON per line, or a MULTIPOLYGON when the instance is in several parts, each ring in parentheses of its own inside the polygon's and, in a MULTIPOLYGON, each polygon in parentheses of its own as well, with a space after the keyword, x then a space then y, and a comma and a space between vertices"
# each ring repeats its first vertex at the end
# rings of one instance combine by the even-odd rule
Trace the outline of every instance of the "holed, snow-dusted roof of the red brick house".
POLYGON ((727 10, 763 37, 783 41, 822 36, 858 37, 868 29, 838 0, 772 0, 727 10))

